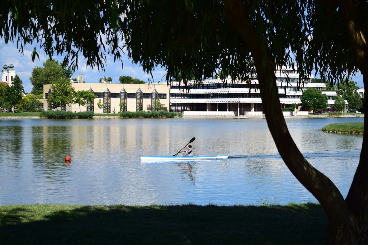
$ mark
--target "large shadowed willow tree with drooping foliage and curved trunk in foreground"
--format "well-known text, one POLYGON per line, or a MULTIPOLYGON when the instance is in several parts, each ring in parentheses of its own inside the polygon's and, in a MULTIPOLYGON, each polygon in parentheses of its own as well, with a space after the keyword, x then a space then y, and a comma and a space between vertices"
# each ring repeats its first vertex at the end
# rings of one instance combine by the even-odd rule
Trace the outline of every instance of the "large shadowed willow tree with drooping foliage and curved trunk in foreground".
MULTIPOLYGON (((187 78, 201 83, 217 71, 229 82, 249 82, 250 74, 256 74, 280 155, 325 209, 327 242, 367 243, 367 136, 344 200, 291 138, 275 76, 278 66, 296 65, 300 85, 314 68, 332 83, 342 82, 347 71, 361 72, 367 85, 367 5, 357 0, 6 1, 0 10, 0 34, 5 42, 17 41, 21 52, 35 41, 50 57, 65 52, 64 62, 72 68, 78 55, 87 65, 104 69, 106 54, 122 62, 126 52, 149 74, 156 66, 165 68, 168 83, 180 74, 184 86, 187 78)), ((37 55, 35 47, 33 59, 37 55)))

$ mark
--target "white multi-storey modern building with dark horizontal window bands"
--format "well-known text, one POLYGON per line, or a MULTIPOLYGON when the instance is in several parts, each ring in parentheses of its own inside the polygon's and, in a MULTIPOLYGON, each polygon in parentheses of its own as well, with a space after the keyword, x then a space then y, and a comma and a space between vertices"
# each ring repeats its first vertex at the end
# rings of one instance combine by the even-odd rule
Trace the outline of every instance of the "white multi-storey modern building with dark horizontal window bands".
MULTIPOLYGON (((298 88, 299 74, 295 68, 283 67, 276 70, 275 75, 282 109, 301 104, 302 92, 312 87, 328 96, 327 111, 333 111, 334 97, 337 96, 337 93, 325 91, 325 83, 307 83, 298 88)), ((311 75, 309 79, 312 78, 311 75)), ((190 90, 186 90, 180 82, 173 82, 170 87, 171 111, 227 111, 234 112, 235 115, 263 114, 261 93, 256 78, 248 84, 241 81, 223 84, 220 79, 209 79, 199 85, 190 81, 188 86, 190 90)), ((296 108, 295 111, 299 109, 296 108)))

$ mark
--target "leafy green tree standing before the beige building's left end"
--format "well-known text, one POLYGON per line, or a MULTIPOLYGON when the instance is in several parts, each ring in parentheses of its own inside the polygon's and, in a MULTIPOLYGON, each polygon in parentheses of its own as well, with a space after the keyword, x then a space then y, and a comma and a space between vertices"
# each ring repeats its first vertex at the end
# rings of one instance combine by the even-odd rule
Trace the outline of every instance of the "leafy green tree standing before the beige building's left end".
POLYGON ((52 93, 49 94, 47 100, 52 102, 52 109, 61 107, 61 110, 65 110, 64 105, 74 103, 75 90, 70 85, 70 79, 59 78, 52 84, 51 89, 52 93))

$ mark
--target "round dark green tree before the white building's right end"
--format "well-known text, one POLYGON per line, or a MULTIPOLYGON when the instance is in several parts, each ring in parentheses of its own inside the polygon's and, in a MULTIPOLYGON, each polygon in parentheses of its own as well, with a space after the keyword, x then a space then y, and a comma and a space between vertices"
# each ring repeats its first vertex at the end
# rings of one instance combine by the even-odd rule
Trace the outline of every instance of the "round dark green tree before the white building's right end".
POLYGON ((323 110, 328 107, 328 97, 326 94, 322 94, 321 91, 316 89, 306 89, 300 97, 300 100, 304 107, 312 109, 313 112, 323 110))

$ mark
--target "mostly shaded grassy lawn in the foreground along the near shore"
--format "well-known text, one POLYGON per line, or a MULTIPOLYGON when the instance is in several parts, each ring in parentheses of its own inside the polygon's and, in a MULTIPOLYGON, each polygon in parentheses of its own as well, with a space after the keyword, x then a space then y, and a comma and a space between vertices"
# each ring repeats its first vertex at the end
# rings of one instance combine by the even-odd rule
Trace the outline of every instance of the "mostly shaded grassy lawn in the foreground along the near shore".
POLYGON ((0 206, 1 244, 324 244, 314 203, 0 206))

